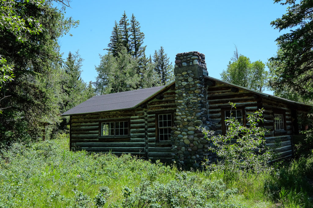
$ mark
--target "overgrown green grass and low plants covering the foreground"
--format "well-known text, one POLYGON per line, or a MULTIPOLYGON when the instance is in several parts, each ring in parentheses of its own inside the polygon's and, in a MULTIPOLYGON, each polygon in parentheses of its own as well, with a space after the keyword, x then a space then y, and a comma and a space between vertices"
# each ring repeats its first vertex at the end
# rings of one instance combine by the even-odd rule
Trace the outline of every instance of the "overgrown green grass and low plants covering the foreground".
POLYGON ((63 134, 55 140, 13 144, 2 151, 0 207, 97 207, 97 200, 104 207, 312 205, 310 186, 305 186, 313 170, 310 158, 274 173, 234 175, 181 171, 130 155, 73 152, 68 144, 63 134))

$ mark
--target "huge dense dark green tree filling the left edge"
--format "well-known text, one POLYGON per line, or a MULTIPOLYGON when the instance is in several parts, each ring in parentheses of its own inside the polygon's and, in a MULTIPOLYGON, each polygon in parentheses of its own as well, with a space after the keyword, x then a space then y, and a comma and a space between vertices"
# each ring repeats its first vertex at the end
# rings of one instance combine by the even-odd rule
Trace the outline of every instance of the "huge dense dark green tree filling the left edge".
POLYGON ((64 9, 54 7, 53 1, 1 0, 0 7, 0 54, 5 64, 14 66, 15 76, 0 91, 0 97, 10 96, 1 106, 11 106, 0 115, 0 138, 35 139, 42 123, 59 109, 49 82, 54 66, 62 62, 58 38, 78 22, 65 18, 64 9))

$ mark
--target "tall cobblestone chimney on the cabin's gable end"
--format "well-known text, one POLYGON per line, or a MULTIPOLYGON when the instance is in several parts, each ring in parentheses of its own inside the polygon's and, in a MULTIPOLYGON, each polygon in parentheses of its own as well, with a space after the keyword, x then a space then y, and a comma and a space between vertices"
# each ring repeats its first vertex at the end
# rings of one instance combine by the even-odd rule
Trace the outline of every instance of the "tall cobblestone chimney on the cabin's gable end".
POLYGON ((199 52, 178 53, 175 68, 174 143, 172 160, 185 167, 198 168, 212 155, 209 142, 195 126, 205 127, 208 119, 207 86, 203 75, 208 75, 205 56, 199 52))

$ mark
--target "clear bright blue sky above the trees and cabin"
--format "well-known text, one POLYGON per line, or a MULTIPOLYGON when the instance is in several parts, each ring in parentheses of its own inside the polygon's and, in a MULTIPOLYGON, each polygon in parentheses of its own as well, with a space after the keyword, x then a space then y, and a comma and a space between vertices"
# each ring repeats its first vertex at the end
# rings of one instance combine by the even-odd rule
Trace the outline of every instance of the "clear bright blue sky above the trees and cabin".
MULTIPOLYGON (((146 55, 164 47, 174 63, 180 52, 198 51, 206 56, 209 76, 220 78, 238 52, 251 61, 267 62, 275 55, 275 39, 282 34, 270 22, 286 13, 286 6, 264 1, 80 1, 74 0, 66 16, 80 20, 77 28, 59 39, 66 58, 69 51, 79 53, 85 61, 82 78, 95 81, 95 66, 100 63, 110 41, 114 21, 124 10, 130 19, 134 13, 145 34, 146 55)), ((269 92, 267 92, 269 93, 269 92)))

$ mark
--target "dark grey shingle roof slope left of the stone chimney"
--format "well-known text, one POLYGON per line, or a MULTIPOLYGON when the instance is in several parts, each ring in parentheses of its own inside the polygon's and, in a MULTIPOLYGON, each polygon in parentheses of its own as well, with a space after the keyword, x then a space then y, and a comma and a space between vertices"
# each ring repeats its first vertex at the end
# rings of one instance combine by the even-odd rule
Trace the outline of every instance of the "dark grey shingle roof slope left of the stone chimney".
POLYGON ((94 96, 79 104, 78 106, 75 106, 74 108, 62 113, 62 116, 132 108, 151 97, 156 92, 159 92, 164 87, 165 86, 150 87, 139 90, 94 96))

